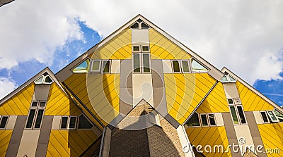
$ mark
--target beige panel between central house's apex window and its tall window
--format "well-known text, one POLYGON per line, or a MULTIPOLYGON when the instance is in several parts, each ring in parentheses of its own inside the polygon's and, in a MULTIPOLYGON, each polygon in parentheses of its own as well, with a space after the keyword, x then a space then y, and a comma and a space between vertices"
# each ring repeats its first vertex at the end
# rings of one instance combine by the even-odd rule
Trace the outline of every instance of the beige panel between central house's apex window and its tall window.
POLYGON ((149 30, 132 30, 132 44, 149 44, 149 30))

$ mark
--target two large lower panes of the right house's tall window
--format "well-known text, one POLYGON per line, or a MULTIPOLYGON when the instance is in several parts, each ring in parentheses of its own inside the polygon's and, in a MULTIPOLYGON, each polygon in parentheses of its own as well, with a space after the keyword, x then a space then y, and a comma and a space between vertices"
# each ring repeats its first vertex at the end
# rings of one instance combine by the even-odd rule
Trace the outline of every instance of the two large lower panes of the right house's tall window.
POLYGON ((242 106, 229 106, 232 120, 235 125, 246 124, 246 117, 242 106))

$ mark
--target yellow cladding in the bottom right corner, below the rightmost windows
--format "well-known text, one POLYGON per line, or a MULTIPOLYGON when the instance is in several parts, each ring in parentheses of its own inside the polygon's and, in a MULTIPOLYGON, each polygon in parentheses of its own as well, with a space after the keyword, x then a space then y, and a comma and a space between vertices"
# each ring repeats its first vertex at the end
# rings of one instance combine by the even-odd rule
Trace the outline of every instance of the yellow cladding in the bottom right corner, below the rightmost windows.
POLYGON ((258 125, 267 156, 283 156, 283 123, 258 125))

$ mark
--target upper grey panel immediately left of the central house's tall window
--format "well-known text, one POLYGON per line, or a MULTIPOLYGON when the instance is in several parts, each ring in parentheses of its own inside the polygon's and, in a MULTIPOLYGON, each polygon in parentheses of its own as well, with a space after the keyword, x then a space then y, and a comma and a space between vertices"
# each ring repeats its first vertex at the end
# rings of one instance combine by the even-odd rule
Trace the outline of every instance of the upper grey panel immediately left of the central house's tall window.
POLYGON ((132 60, 121 60, 120 87, 132 88, 132 60))

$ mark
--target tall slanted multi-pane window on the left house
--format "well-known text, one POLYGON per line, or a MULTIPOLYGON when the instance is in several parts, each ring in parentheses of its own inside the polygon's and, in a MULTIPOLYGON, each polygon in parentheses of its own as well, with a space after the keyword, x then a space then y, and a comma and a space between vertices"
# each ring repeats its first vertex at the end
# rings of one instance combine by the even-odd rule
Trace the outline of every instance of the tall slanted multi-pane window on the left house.
POLYGON ((45 111, 45 106, 46 101, 32 101, 25 128, 40 129, 45 111))

